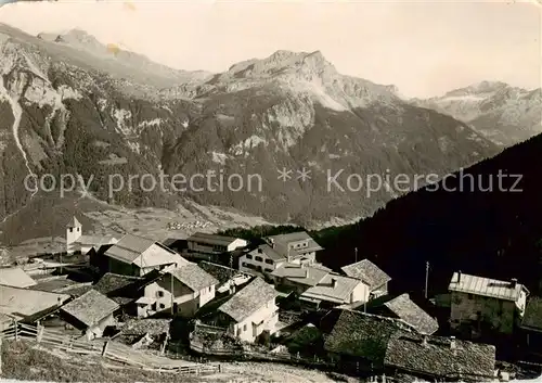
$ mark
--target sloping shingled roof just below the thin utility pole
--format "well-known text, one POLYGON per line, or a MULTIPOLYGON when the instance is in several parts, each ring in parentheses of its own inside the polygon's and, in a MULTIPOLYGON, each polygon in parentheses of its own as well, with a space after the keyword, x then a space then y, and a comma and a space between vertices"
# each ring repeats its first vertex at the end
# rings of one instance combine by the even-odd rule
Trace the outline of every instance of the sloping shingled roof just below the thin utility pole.
POLYGON ((399 295, 384 305, 421 334, 431 335, 439 328, 437 320, 412 302, 409 294, 399 295))

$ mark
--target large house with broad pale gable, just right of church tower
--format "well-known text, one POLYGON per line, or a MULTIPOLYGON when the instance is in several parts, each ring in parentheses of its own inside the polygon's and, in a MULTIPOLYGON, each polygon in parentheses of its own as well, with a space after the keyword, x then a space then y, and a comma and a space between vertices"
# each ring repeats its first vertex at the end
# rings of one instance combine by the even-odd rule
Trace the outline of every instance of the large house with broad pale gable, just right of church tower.
POLYGON ((91 256, 91 265, 98 267, 102 273, 133 277, 143 277, 153 270, 178 268, 188 264, 186 259, 162 243, 133 234, 124 235, 105 252, 100 251, 91 256))

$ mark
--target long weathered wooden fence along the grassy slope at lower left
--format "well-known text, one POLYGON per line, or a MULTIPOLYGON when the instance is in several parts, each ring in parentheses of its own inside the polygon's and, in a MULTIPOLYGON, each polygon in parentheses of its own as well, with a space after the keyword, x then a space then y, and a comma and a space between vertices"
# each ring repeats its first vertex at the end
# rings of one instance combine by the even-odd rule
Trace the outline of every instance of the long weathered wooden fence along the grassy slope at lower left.
POLYGON ((47 330, 39 325, 28 325, 14 322, 4 329, 0 336, 5 340, 30 340, 38 344, 48 345, 76 354, 100 355, 113 361, 137 367, 145 371, 170 372, 178 374, 208 374, 221 371, 217 363, 195 363, 184 360, 172 360, 163 356, 133 349, 130 346, 109 340, 88 342, 85 339, 69 336, 57 331, 47 330))

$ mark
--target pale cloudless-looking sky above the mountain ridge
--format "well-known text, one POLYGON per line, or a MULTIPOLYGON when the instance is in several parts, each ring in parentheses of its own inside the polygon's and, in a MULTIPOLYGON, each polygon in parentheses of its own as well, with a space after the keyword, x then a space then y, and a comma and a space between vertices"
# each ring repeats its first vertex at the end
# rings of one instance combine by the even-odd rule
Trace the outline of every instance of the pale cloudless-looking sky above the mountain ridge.
POLYGON ((0 22, 30 34, 79 27, 182 69, 320 50, 340 73, 408 97, 481 80, 541 86, 541 8, 530 2, 61 0, 4 5, 0 22))

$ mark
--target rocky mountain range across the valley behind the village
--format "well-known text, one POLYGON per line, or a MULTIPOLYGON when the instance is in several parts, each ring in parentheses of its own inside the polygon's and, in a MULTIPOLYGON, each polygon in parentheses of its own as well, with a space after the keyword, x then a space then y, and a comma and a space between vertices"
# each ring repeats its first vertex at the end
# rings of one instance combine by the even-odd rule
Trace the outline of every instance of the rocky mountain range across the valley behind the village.
MULTIPOLYGON (((311 226, 371 215, 402 193, 387 182, 369 196, 364 189, 330 190, 330 174, 344 170, 343 184, 348 175, 443 176, 502 150, 474 123, 483 116, 452 116, 437 100, 405 100, 393 86, 341 75, 319 51, 278 51, 210 74, 166 67, 82 30, 29 36, 5 25, 0 51, 7 225, 43 195, 25 189, 30 173, 93 177, 90 195, 109 204, 169 207, 190 200, 311 226), (284 169, 292 171, 287 182, 279 179, 284 169), (301 169, 310 179, 296 179, 301 169), (111 175, 209 170, 258 175, 263 188, 176 193, 136 183, 108 193, 111 175)), ((540 90, 525 99, 532 99, 529 111, 540 107, 540 90)), ((516 131, 503 126, 503 135, 516 131)))

